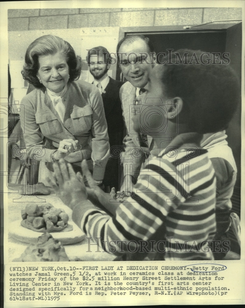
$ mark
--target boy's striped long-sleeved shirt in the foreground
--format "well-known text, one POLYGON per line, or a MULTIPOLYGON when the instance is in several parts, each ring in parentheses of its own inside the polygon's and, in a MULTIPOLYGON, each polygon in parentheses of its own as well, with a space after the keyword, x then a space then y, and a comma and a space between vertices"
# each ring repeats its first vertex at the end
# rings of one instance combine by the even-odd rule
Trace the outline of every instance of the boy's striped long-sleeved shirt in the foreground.
POLYGON ((163 150, 149 161, 115 217, 101 210, 85 213, 81 228, 89 237, 100 238, 102 249, 112 252, 113 243, 113 253, 135 251, 129 258, 143 260, 146 253, 140 253, 139 243, 146 241, 151 251, 158 251, 148 253, 150 259, 212 259, 207 241, 216 230, 214 169, 206 150, 175 149, 177 156, 163 150), (157 243, 165 245, 160 249, 157 243))

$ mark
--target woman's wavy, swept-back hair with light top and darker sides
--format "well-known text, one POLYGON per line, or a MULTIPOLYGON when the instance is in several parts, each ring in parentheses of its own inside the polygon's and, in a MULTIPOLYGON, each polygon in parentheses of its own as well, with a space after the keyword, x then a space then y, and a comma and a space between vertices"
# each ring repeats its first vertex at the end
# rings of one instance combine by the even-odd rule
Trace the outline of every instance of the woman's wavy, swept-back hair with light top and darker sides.
POLYGON ((43 87, 36 76, 39 70, 39 56, 54 55, 57 52, 62 52, 66 56, 66 61, 69 67, 69 80, 77 80, 82 68, 81 57, 76 56, 74 49, 68 42, 51 34, 43 35, 38 39, 35 39, 35 41, 33 41, 27 48, 25 64, 21 71, 23 79, 27 80, 37 88, 43 87))

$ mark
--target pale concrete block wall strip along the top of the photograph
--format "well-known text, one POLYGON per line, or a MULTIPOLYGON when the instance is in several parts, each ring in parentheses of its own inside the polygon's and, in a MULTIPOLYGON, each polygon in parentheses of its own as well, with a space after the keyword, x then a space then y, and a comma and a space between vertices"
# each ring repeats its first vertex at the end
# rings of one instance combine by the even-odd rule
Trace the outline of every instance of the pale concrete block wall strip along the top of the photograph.
POLYGON ((213 20, 241 18, 242 9, 235 7, 10 9, 8 31, 107 26, 190 26, 213 20))

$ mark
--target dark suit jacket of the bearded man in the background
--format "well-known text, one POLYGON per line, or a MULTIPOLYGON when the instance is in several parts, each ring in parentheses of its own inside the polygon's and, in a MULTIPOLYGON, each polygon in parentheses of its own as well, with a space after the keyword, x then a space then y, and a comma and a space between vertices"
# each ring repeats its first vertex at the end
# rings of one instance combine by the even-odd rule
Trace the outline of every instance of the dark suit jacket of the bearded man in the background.
POLYGON ((124 137, 124 121, 122 115, 122 105, 119 97, 122 81, 112 79, 102 93, 104 104, 105 118, 108 127, 108 136, 110 147, 114 145, 122 145, 124 137))

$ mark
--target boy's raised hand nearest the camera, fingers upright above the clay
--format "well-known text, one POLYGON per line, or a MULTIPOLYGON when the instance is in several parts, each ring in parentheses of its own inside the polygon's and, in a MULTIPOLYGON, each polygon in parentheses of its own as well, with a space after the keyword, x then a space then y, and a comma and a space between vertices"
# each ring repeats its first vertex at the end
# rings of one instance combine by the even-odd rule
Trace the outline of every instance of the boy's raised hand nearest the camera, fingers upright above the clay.
POLYGON ((60 159, 57 164, 53 164, 53 168, 56 183, 52 183, 52 186, 64 204, 73 209, 74 206, 88 199, 86 187, 76 176, 71 164, 60 159))

